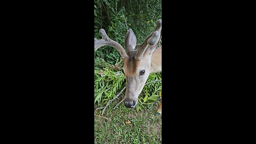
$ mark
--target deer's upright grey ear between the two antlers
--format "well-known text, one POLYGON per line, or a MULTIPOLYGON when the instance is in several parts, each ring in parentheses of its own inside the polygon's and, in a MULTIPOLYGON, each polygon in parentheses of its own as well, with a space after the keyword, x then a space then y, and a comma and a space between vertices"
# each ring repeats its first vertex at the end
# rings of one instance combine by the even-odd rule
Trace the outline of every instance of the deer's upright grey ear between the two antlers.
POLYGON ((137 44, 137 38, 132 29, 129 29, 124 39, 126 50, 133 50, 137 44))

